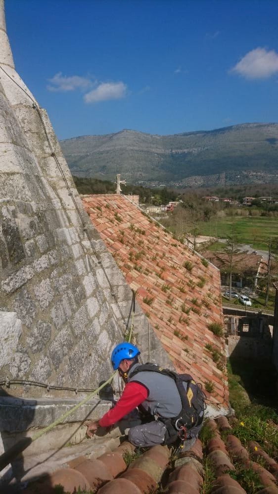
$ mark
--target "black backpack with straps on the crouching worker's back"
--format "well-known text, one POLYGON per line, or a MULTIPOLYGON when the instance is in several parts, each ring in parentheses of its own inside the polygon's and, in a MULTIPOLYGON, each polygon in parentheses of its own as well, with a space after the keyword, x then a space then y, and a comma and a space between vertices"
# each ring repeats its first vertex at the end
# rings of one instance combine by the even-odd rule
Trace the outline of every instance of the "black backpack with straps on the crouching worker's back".
POLYGON ((181 437, 182 431, 185 433, 185 431, 202 423, 206 409, 206 397, 201 385, 197 384, 190 374, 178 374, 175 371, 170 371, 170 369, 162 369, 157 364, 147 363, 131 371, 129 377, 144 371, 159 372, 175 381, 182 402, 182 410, 176 417, 159 417, 159 420, 165 423, 171 437, 177 436, 177 431, 181 437))

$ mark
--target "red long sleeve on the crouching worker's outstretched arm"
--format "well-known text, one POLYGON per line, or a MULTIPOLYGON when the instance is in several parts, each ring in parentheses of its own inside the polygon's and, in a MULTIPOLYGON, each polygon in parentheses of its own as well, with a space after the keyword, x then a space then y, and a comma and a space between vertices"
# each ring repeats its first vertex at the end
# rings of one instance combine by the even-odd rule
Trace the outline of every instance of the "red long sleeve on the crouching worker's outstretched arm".
POLYGON ((142 384, 138 382, 128 382, 119 401, 115 407, 105 413, 98 421, 101 427, 109 427, 113 425, 127 413, 132 412, 138 407, 148 396, 148 391, 142 384))

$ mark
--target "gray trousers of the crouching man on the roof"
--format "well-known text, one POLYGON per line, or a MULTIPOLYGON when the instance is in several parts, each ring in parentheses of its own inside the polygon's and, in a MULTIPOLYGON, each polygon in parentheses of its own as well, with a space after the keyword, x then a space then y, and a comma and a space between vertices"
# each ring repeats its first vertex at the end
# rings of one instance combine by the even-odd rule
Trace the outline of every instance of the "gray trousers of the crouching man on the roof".
MULTIPOLYGON (((188 443, 188 446, 190 444, 190 447, 193 446, 201 428, 202 424, 192 427, 192 429, 187 432, 185 446, 186 443, 188 443)), ((129 430, 129 441, 141 448, 156 446, 157 444, 164 443, 166 433, 167 429, 164 423, 160 422, 160 420, 153 420, 152 422, 132 427, 129 430)))

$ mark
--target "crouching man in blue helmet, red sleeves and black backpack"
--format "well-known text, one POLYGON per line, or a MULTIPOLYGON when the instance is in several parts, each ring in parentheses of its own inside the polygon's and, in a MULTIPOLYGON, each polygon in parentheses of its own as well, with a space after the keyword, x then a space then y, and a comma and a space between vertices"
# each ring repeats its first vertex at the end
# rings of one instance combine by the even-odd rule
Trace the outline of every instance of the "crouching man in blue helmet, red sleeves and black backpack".
POLYGON ((131 343, 117 345, 112 367, 126 385, 115 407, 89 423, 87 435, 109 427, 136 408, 142 423, 129 429, 129 441, 137 447, 174 444, 189 449, 196 441, 205 409, 205 397, 189 374, 162 370, 155 364, 139 364, 139 349, 131 343), (146 418, 147 417, 147 418, 146 418))

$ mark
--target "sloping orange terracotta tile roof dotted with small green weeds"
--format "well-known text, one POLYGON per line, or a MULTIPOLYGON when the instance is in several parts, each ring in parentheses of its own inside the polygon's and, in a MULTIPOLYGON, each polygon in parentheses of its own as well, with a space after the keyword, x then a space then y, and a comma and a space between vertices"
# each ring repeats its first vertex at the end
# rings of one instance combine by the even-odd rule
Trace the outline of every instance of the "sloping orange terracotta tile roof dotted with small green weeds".
POLYGON ((215 383, 212 402, 228 408, 226 375, 205 349, 211 344, 225 359, 224 340, 207 328, 223 324, 218 269, 205 267, 124 196, 84 196, 83 204, 175 367, 215 383))

